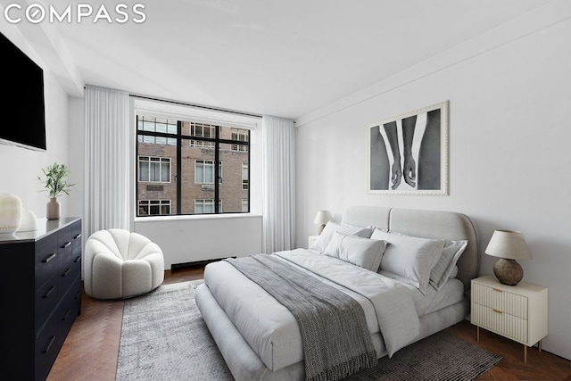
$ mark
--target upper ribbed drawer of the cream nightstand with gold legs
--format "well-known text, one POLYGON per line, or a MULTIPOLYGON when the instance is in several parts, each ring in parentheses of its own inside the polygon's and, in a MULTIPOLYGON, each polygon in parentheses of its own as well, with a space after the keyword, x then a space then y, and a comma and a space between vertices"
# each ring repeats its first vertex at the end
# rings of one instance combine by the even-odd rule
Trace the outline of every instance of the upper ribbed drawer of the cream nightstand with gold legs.
POLYGON ((499 287, 472 284, 472 302, 520 319, 527 319, 527 297, 499 287))

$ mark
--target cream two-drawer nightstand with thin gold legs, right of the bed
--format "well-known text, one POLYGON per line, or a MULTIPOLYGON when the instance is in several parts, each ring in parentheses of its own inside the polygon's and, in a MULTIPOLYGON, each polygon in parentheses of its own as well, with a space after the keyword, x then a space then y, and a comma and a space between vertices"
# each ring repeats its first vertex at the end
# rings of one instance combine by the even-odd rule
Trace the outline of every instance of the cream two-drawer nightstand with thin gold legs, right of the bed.
POLYGON ((547 335, 547 288, 520 282, 517 286, 502 285, 496 277, 472 279, 472 324, 524 344, 535 343, 542 351, 542 338, 547 335))

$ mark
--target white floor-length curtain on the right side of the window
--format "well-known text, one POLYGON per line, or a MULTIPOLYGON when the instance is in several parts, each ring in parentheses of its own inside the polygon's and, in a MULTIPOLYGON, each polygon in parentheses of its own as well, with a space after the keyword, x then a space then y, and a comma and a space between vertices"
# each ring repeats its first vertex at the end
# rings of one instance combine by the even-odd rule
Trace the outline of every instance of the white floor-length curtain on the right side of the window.
POLYGON ((264 115, 263 242, 264 253, 295 248, 294 120, 264 115))

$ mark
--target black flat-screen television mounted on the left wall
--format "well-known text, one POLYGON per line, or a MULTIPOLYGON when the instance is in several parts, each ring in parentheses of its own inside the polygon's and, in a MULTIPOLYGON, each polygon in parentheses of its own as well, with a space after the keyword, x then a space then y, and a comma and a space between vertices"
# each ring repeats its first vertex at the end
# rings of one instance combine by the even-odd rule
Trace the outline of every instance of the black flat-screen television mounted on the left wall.
POLYGON ((46 150, 44 70, 0 33, 4 100, 0 101, 0 143, 46 150))

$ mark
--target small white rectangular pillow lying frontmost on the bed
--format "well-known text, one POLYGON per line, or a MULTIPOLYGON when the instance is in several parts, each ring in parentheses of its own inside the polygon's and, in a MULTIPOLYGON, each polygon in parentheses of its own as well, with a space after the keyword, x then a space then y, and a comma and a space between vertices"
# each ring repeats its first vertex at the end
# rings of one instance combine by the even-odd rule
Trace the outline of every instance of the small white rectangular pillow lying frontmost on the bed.
POLYGON ((347 236, 335 231, 327 243, 324 254, 377 272, 385 248, 385 241, 347 236))

